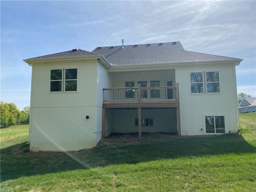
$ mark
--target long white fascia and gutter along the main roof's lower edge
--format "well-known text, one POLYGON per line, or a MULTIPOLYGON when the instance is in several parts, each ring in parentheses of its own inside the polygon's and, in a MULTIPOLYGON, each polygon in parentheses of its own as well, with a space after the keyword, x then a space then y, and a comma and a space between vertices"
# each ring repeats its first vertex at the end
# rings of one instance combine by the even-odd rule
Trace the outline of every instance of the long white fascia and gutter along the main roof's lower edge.
POLYGON ((234 64, 238 65, 242 59, 234 60, 219 60, 219 61, 194 61, 194 62, 173 62, 173 63, 158 63, 158 64, 137 64, 137 65, 114 65, 108 72, 126 72, 126 71, 143 71, 143 70, 161 70, 175 68, 182 65, 201 65, 201 64, 234 64))

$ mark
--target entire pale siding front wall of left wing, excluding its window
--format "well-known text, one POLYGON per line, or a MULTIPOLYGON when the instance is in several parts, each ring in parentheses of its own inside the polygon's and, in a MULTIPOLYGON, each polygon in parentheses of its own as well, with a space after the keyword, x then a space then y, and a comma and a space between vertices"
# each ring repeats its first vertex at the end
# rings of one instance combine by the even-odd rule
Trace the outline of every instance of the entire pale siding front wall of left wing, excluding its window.
POLYGON ((96 145, 96 74, 97 60, 34 63, 30 150, 70 151, 96 145), (77 92, 50 92, 50 70, 61 68, 78 68, 77 92))

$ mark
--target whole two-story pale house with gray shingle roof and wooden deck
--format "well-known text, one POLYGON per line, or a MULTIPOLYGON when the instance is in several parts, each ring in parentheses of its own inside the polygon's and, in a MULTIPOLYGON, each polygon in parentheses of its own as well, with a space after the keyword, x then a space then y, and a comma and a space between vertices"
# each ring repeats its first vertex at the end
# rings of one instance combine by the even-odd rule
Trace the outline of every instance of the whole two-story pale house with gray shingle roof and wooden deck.
POLYGON ((180 42, 122 40, 24 61, 32 66, 32 151, 93 148, 111 133, 238 131, 235 66, 242 59, 186 51, 180 42))

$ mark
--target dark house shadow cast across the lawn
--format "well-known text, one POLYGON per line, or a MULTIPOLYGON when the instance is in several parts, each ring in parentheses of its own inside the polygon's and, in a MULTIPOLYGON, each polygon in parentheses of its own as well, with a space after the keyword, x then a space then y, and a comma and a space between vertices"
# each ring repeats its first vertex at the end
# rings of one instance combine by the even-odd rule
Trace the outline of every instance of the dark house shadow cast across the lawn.
MULTIPOLYGON (((138 138, 137 138, 138 139, 138 138)), ((144 138, 144 141, 147 139, 144 138)), ((114 164, 136 164, 161 159, 218 154, 256 153, 239 134, 163 138, 132 145, 108 144, 78 152, 26 152, 26 142, 1 150, 1 182, 22 176, 88 169, 114 164)))

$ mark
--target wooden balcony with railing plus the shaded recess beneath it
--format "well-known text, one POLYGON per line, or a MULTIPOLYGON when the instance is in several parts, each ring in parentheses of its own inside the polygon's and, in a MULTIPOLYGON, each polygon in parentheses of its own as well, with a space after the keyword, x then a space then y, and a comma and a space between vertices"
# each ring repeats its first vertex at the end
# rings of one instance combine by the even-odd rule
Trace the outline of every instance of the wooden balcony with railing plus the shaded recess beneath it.
POLYGON ((103 89, 102 138, 111 133, 167 132, 180 136, 179 87, 103 89))

